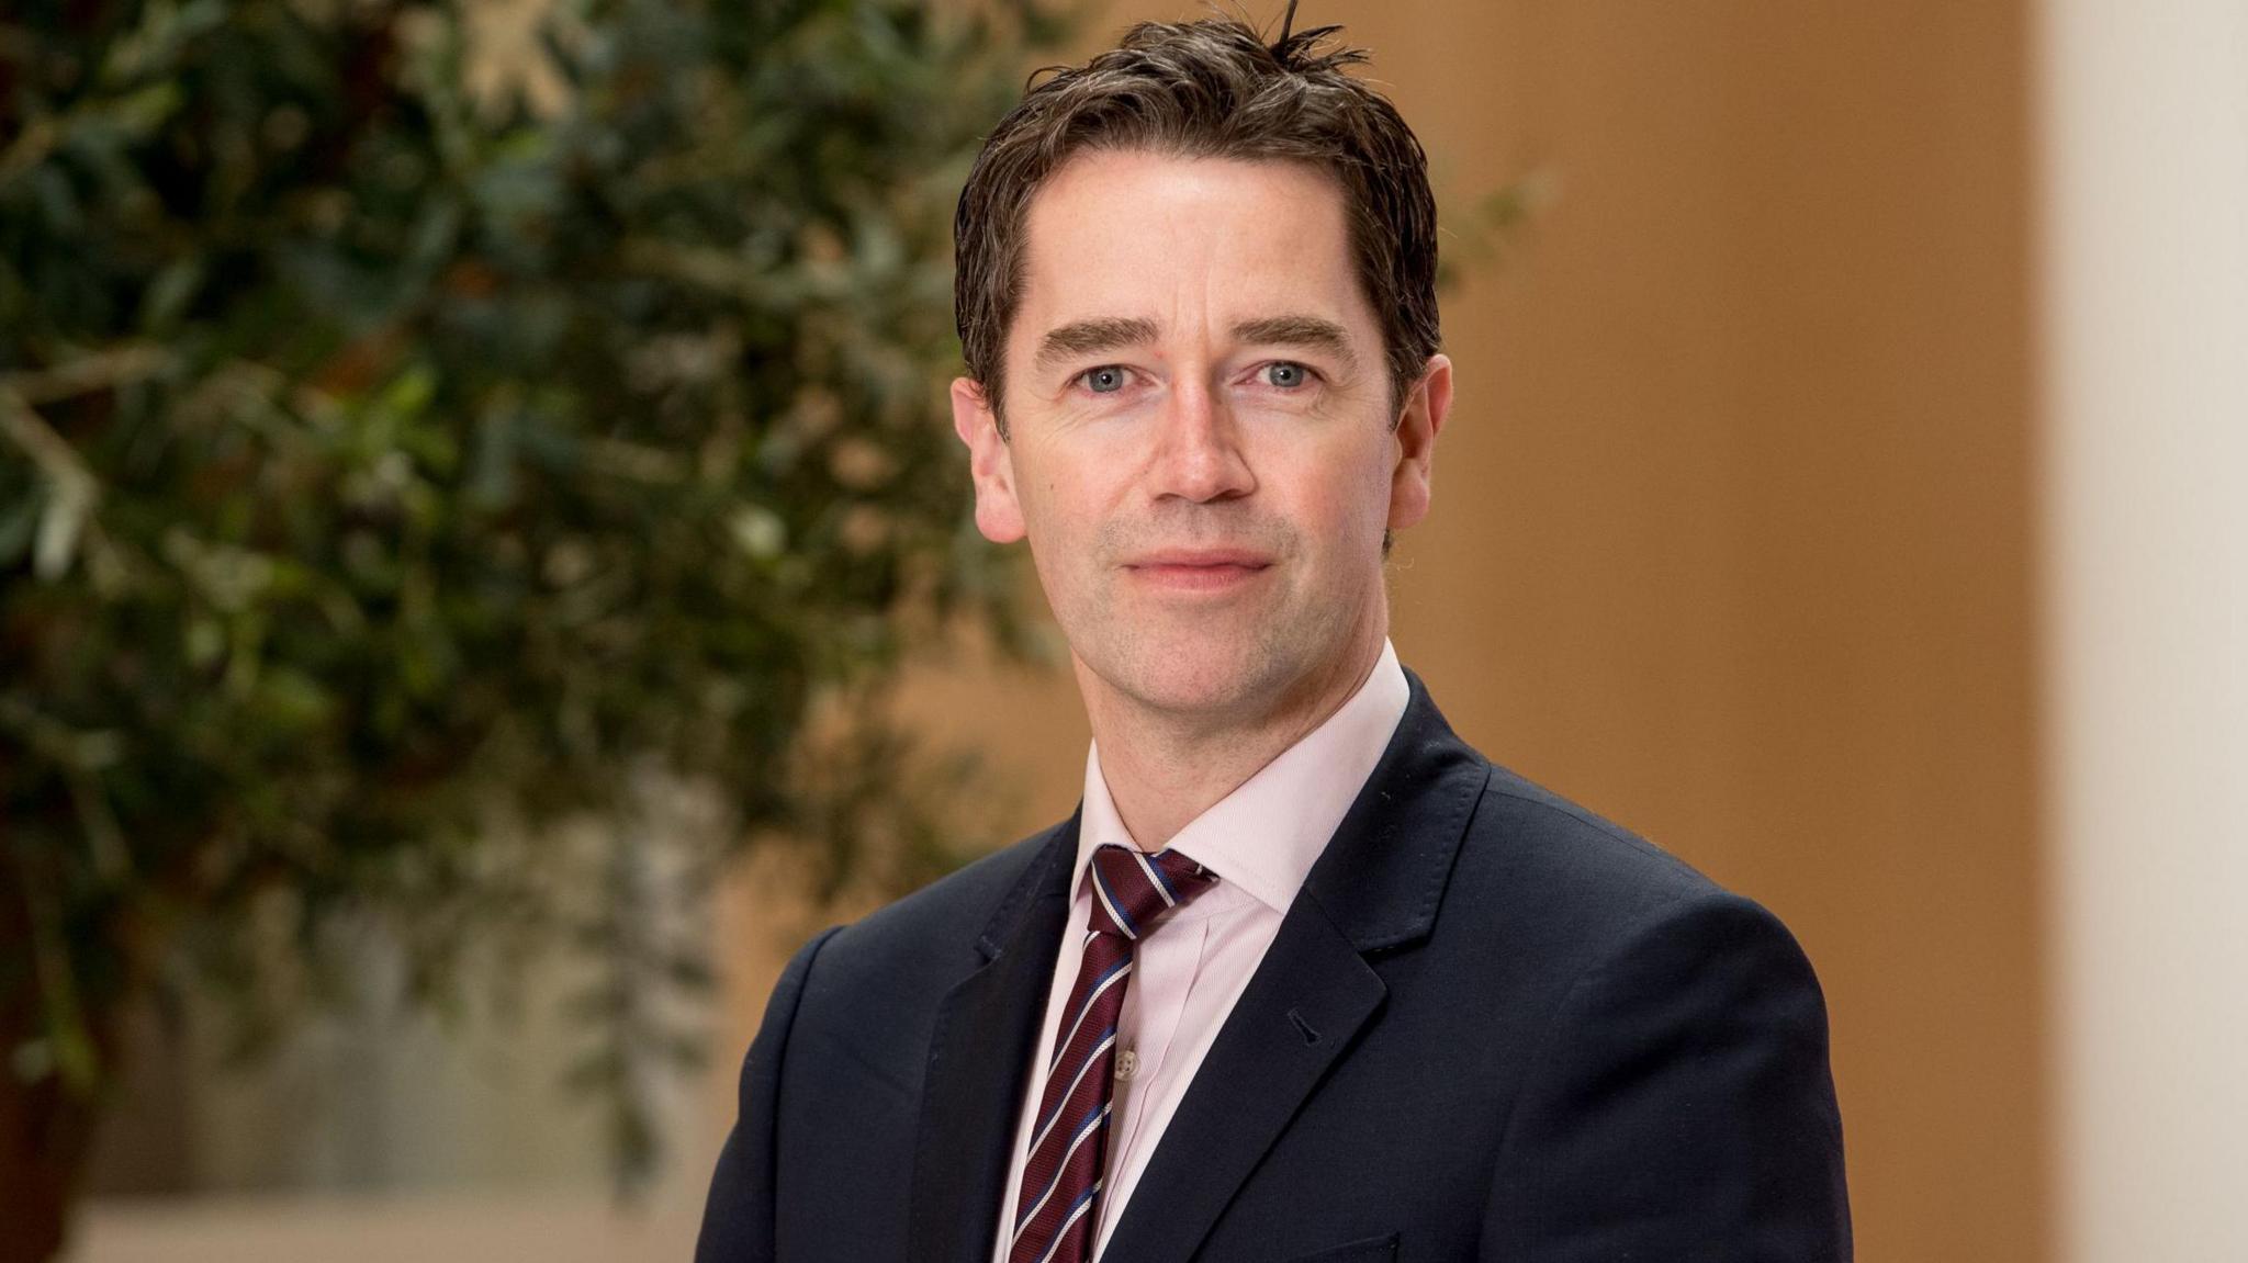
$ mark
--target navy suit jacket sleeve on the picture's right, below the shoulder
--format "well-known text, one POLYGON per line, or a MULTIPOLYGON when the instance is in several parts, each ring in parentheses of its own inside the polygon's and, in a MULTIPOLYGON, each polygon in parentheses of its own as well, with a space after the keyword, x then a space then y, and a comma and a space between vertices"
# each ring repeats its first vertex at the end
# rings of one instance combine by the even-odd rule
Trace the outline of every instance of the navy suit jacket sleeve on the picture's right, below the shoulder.
POLYGON ((1657 910, 1574 984, 1506 1126, 1486 1256, 1850 1259, 1810 960, 1722 892, 1657 910))

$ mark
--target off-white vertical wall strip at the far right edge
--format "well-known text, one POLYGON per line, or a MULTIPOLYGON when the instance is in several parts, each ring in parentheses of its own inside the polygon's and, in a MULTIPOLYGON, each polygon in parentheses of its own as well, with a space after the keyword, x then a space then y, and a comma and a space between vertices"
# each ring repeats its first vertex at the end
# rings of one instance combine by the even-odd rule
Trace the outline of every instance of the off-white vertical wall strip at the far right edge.
POLYGON ((2248 4, 2039 52, 2059 1238, 2248 1259, 2248 4))

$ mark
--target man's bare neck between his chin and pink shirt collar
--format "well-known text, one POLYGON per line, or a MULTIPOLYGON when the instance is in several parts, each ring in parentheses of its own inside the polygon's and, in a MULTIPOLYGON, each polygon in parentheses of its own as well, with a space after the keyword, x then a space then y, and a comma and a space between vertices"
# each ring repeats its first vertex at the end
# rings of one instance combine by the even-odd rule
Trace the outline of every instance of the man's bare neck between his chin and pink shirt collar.
POLYGON ((1142 849, 1171 843, 1196 816, 1326 724, 1374 672, 1387 632, 1338 654, 1329 670, 1254 715, 1180 715, 1120 697, 1077 661, 1086 719, 1102 751, 1102 780, 1142 849))

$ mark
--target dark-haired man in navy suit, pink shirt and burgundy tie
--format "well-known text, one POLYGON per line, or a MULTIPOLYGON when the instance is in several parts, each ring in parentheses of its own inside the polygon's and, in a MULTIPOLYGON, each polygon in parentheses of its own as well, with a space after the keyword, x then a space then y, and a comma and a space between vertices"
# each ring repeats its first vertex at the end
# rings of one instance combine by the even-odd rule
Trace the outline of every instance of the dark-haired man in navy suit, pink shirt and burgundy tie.
POLYGON ((953 418, 1084 802, 796 955, 706 1263, 1848 1259, 1794 939, 1389 647, 1452 364, 1421 146, 1326 34, 1135 27, 969 175, 953 418))

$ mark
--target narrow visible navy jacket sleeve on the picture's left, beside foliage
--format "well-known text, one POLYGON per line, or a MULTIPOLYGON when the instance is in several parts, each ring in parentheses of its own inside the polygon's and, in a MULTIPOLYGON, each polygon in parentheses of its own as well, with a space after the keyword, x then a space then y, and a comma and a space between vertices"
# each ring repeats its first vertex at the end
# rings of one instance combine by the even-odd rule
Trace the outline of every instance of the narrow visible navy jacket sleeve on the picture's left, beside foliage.
POLYGON ((710 1200, 704 1202, 701 1236, 695 1263, 771 1263, 773 1184, 778 1175, 780 1065, 789 1052, 789 1029, 805 993, 812 960, 836 930, 825 930, 805 944, 773 987, 764 1005, 764 1025, 742 1058, 742 1101, 726 1146, 710 1175, 710 1200))

